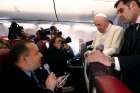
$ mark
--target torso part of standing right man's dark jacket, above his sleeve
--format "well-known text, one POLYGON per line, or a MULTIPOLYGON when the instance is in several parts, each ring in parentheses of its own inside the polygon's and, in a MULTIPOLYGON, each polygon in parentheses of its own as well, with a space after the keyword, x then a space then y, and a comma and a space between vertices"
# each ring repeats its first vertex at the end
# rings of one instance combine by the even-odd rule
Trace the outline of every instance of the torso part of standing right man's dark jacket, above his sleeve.
POLYGON ((124 44, 119 55, 140 55, 140 24, 130 25, 125 30, 124 44))

